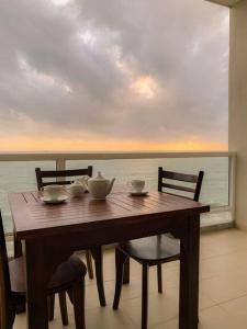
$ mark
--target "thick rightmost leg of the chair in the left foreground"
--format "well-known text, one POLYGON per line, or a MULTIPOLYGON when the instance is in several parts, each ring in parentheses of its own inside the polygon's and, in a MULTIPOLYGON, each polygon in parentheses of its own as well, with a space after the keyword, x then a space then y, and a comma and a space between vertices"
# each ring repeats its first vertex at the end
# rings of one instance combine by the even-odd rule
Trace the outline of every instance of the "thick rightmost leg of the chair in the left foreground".
POLYGON ((86 329, 85 326, 85 279, 74 284, 72 303, 76 329, 86 329))

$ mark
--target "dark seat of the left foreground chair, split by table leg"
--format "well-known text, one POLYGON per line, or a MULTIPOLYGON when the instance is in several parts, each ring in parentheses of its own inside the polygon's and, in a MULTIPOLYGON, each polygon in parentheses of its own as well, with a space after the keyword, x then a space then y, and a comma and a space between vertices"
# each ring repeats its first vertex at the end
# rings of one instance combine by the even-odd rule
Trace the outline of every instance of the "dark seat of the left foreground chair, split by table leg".
MULTIPOLYGON (((20 257, 9 262, 11 291, 25 294, 25 263, 24 258, 20 257)), ((59 292, 63 287, 72 285, 75 281, 81 280, 87 273, 83 262, 76 256, 71 256, 67 261, 59 264, 52 276, 47 291, 50 293, 59 292)))

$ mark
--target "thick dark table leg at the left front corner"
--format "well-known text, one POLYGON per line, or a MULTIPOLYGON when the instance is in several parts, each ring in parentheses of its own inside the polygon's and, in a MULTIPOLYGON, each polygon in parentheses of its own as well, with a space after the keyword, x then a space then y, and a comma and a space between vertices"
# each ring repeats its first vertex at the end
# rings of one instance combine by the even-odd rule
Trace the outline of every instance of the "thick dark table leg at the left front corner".
POLYGON ((25 241, 27 329, 48 329, 48 266, 42 242, 25 241))

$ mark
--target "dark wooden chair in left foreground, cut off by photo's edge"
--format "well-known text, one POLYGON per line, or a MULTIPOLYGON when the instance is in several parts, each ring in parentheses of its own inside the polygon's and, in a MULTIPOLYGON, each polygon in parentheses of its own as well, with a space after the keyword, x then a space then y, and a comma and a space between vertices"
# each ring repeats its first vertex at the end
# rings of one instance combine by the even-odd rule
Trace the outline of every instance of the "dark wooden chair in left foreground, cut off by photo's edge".
MULTIPOLYGON (((48 319, 53 320, 50 296, 68 293, 74 305, 76 329, 85 329, 85 275, 87 268, 75 256, 63 262, 53 274, 47 286, 48 319)), ((16 307, 25 303, 25 261, 23 257, 8 260, 5 237, 0 213, 0 328, 12 329, 16 307)), ((63 325, 68 325, 66 304, 60 307, 63 325)))

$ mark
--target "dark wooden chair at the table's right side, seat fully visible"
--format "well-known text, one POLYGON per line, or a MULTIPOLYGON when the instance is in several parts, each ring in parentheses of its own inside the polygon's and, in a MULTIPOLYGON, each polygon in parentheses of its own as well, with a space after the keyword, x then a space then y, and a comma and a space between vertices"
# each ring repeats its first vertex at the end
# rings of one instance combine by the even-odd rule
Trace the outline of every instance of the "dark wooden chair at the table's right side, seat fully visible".
MULTIPOLYGON (((166 171, 158 168, 158 191, 199 201, 204 172, 198 175, 166 171), (164 181, 165 180, 165 181, 164 181), (183 184, 181 184, 181 182, 183 184), (166 189, 166 191, 164 190, 166 189), (179 191, 179 192, 178 192, 179 191), (177 193, 176 193, 177 192, 177 193), (181 193, 183 195, 181 195, 181 193), (186 195, 184 195, 186 193, 186 195), (189 196, 190 195, 190 196, 189 196)), ((124 263, 133 258, 142 264, 142 329, 148 320, 148 270, 157 266, 158 292, 162 293, 162 263, 180 259, 180 241, 170 235, 159 235, 119 243, 115 248, 115 294, 113 309, 119 308, 124 276, 124 263)))

